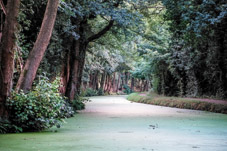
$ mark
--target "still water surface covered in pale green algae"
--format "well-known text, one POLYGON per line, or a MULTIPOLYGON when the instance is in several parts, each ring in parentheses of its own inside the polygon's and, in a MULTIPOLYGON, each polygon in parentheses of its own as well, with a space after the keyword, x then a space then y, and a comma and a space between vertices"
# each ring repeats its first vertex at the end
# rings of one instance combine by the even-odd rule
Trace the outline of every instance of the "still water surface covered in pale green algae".
POLYGON ((91 100, 61 129, 0 134, 0 151, 227 151, 227 115, 91 100))

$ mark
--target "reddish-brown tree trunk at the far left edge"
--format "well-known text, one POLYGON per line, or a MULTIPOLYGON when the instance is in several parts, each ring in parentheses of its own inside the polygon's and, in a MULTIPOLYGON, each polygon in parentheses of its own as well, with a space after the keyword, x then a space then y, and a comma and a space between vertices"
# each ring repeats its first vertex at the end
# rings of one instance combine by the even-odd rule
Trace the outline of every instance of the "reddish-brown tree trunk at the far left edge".
POLYGON ((7 118, 5 106, 10 96, 14 70, 14 46, 16 43, 17 17, 20 0, 8 0, 6 7, 6 21, 0 42, 0 118, 7 118))

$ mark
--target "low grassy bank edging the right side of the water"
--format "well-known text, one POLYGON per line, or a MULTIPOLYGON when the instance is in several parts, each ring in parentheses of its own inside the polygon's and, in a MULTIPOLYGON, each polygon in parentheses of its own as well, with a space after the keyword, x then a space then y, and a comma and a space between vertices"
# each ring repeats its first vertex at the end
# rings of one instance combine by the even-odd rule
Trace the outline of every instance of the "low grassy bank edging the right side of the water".
POLYGON ((210 103, 193 98, 165 97, 157 94, 141 95, 139 93, 132 93, 127 97, 127 99, 138 103, 227 114, 227 104, 210 103))

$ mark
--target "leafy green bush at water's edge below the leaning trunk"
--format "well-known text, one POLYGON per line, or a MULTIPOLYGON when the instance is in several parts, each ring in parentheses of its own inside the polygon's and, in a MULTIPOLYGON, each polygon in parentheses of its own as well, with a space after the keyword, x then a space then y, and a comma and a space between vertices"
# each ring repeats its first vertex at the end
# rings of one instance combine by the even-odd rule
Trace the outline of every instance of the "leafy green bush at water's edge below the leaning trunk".
POLYGON ((7 100, 10 122, 23 131, 60 127, 63 119, 72 116, 74 111, 59 94, 59 84, 59 78, 49 83, 46 77, 41 77, 34 90, 28 93, 13 92, 7 100))

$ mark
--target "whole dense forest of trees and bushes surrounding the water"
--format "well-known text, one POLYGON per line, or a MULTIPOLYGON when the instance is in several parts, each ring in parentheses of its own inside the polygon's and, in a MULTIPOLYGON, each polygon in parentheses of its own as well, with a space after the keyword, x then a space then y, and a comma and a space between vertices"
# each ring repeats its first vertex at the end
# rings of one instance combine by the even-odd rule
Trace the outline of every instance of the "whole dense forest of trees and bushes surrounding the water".
POLYGON ((227 98, 226 0, 0 4, 5 131, 60 126, 82 106, 83 96, 152 89, 166 96, 227 98))

